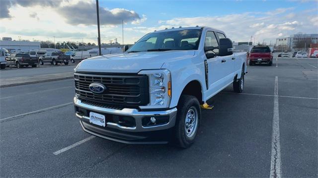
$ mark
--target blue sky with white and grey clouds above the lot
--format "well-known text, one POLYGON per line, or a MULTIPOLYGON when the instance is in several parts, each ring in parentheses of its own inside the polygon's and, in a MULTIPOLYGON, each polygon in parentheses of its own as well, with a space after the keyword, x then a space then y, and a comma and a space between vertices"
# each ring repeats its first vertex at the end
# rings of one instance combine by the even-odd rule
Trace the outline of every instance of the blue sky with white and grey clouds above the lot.
MULTIPOLYGON (((9 4, 0 9, 1 37, 96 43, 95 0, 19 1, 1 0, 9 4)), ((195 25, 218 28, 238 42, 318 33, 317 0, 99 0, 99 6, 102 43, 121 43, 121 19, 130 44, 154 30, 195 25)))

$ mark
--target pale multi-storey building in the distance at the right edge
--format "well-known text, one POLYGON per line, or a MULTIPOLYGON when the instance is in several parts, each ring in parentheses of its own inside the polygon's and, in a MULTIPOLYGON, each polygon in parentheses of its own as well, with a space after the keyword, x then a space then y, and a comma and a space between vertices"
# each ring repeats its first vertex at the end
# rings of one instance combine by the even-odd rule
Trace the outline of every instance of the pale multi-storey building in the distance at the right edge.
POLYGON ((317 44, 318 34, 295 34, 290 37, 277 38, 276 46, 286 46, 287 48, 292 49, 299 41, 308 41, 310 44, 317 44))

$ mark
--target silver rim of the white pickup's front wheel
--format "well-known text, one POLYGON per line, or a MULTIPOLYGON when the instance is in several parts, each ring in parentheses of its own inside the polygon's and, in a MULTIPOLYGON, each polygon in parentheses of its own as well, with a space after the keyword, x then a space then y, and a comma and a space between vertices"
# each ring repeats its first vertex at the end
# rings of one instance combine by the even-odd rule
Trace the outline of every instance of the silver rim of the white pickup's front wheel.
POLYGON ((188 138, 191 138, 198 128, 198 111, 192 106, 188 110, 184 121, 184 132, 188 138))

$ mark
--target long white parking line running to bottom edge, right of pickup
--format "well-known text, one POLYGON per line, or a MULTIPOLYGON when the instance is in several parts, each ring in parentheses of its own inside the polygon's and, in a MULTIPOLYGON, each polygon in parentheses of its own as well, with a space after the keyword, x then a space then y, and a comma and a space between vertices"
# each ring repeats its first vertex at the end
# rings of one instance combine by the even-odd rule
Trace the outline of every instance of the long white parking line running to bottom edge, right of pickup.
POLYGON ((270 178, 281 177, 281 157, 280 157, 280 138, 279 138, 279 109, 278 109, 278 77, 275 77, 274 89, 274 114, 272 129, 272 154, 270 164, 270 178))

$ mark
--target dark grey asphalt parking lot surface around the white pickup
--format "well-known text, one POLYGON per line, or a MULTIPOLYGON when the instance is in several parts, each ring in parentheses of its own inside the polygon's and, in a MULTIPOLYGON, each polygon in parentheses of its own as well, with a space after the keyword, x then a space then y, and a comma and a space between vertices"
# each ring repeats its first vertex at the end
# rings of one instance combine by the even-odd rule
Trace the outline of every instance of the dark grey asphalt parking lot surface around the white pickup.
POLYGON ((243 93, 213 98, 188 149, 84 133, 72 79, 1 88, 0 176, 317 178, 317 68, 313 58, 248 66, 243 93))

